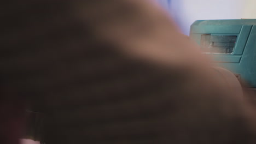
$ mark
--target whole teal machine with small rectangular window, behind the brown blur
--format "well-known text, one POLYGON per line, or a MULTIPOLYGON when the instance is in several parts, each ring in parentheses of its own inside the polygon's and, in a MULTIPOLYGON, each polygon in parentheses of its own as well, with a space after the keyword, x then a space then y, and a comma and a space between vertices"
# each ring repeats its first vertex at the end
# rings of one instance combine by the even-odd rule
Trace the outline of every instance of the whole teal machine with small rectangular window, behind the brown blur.
POLYGON ((242 85, 256 88, 256 19, 195 21, 190 38, 218 67, 231 71, 242 85))

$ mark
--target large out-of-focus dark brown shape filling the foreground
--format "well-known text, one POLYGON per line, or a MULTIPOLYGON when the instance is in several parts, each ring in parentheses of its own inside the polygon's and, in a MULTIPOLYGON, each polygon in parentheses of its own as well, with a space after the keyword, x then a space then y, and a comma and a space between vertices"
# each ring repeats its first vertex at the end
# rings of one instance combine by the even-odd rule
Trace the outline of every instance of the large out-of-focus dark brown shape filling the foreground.
POLYGON ((160 7, 16 2, 1 23, 3 97, 44 113, 46 144, 255 143, 253 109, 160 7))

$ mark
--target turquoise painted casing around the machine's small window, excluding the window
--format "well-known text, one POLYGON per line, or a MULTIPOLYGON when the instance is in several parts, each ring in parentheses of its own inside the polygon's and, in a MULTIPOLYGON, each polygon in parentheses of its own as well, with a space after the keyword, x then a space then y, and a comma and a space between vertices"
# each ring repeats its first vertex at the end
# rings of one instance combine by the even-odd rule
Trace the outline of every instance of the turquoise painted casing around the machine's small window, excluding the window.
POLYGON ((237 35, 234 51, 206 53, 213 62, 238 74, 248 87, 256 87, 256 20, 204 20, 190 27, 190 38, 201 45, 201 35, 237 35))

